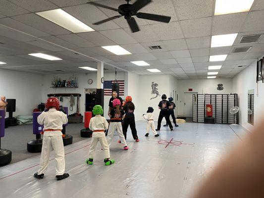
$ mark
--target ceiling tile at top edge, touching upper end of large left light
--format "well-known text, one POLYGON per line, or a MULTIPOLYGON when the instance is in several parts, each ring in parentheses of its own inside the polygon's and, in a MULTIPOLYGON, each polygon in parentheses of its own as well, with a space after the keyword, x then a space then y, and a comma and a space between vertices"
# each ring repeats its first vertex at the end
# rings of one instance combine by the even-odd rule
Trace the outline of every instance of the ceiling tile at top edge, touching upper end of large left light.
POLYGON ((47 0, 9 0, 9 1, 32 12, 58 8, 58 6, 47 0))

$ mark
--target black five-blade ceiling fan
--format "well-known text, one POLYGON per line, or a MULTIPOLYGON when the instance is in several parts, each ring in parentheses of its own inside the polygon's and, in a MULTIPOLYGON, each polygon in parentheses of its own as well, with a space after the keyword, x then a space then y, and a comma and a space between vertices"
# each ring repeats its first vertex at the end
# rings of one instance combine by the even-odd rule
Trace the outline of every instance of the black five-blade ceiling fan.
POLYGON ((159 21, 159 22, 163 22, 163 23, 168 23, 170 21, 170 18, 171 18, 170 16, 163 16, 163 15, 158 15, 158 14, 149 14, 149 13, 144 13, 144 12, 138 12, 138 10, 140 10, 141 8, 143 8, 144 6, 146 6, 147 4, 152 2, 152 0, 137 0, 133 4, 129 4, 129 1, 131 1, 131 0, 126 0, 126 1, 127 1, 127 4, 119 5, 118 9, 113 8, 113 7, 109 7, 107 5, 103 5, 103 4, 100 4, 97 2, 88 2, 89 4, 93 4, 93 5, 96 5, 99 7, 104 7, 106 9, 116 11, 120 14, 117 16, 113 16, 113 17, 104 19, 102 21, 98 21, 98 22, 93 23, 93 24, 99 25, 99 24, 105 23, 107 21, 111 21, 113 19, 124 16, 125 19, 127 20, 127 23, 129 25, 131 31, 132 32, 138 32, 138 31, 140 31, 140 29, 138 27, 138 24, 137 24, 135 18, 132 16, 136 16, 136 17, 142 18, 142 19, 159 21))

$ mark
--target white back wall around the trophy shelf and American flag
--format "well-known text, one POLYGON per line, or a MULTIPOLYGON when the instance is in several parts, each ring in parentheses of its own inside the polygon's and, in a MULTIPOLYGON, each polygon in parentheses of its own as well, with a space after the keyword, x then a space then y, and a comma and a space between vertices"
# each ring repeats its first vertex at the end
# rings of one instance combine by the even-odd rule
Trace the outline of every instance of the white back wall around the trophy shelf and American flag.
MULTIPOLYGON (((105 72, 104 73, 105 80, 114 80, 115 74, 105 72)), ((97 73, 76 73, 76 74, 58 74, 58 75, 45 75, 44 76, 44 86, 42 91, 42 101, 45 102, 48 98, 48 94, 64 94, 64 93, 79 93, 82 96, 80 97, 80 103, 79 103, 79 110, 80 113, 83 115, 85 111, 85 89, 96 89, 97 88, 97 73), (78 88, 51 88, 53 77, 59 77, 61 80, 68 79, 70 76, 76 76, 78 79, 78 88), (93 83, 88 84, 88 79, 92 79, 93 83)), ((101 79, 100 79, 101 80, 101 79)), ((118 72, 117 73, 117 80, 125 80, 125 72, 118 72)), ((124 98, 123 96, 121 96, 124 98)), ((107 111, 108 111, 108 102, 110 96, 105 96, 104 98, 104 116, 108 119, 107 111)), ((63 98, 63 102, 61 102, 61 105, 68 106, 69 107, 69 99, 70 97, 63 98)), ((75 97, 75 105, 73 106, 73 111, 69 110, 69 114, 72 114, 76 112, 76 102, 77 98, 75 97)))

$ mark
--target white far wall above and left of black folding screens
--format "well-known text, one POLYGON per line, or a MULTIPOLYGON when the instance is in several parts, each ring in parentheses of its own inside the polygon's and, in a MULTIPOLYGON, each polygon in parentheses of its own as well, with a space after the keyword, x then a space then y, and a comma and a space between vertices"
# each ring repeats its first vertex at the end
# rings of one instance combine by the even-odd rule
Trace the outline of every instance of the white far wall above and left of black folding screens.
POLYGON ((192 92, 198 94, 230 94, 233 92, 233 85, 231 78, 217 78, 217 79, 194 79, 194 80, 178 80, 178 101, 177 115, 184 115, 184 93, 189 92, 188 89, 193 89, 192 92), (217 85, 223 84, 224 90, 218 91, 217 85))

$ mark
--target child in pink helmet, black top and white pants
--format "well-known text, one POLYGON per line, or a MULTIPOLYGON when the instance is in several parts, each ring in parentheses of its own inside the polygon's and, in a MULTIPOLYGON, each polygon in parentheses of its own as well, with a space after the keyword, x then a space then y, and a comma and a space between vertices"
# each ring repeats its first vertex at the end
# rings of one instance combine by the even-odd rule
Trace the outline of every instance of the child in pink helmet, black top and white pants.
POLYGON ((122 132, 122 119, 125 116, 125 112, 122 109, 120 109, 121 102, 119 99, 114 99, 112 103, 113 103, 114 108, 109 113, 109 115, 111 116, 111 119, 110 119, 110 124, 109 124, 108 132, 107 132, 107 137, 106 137, 107 143, 110 147, 113 133, 117 131, 120 142, 123 145, 123 149, 127 150, 128 146, 126 144, 126 140, 122 132))

